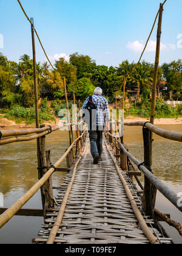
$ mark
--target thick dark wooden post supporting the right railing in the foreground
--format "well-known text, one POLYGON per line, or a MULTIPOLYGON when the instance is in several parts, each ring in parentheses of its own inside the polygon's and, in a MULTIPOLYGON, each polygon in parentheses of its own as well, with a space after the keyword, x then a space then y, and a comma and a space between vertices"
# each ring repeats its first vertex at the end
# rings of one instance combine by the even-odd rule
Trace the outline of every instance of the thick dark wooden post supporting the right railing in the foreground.
MULTIPOLYGON (((150 168, 150 130, 143 127, 144 164, 150 168)), ((147 215, 153 216, 155 205, 152 205, 152 183, 144 177, 143 210, 147 215)))

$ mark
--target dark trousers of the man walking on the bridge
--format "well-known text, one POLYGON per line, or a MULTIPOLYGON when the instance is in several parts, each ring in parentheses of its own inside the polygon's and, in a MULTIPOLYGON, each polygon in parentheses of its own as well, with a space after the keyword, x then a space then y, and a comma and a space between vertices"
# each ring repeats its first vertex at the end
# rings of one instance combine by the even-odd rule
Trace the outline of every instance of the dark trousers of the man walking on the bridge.
POLYGON ((103 130, 101 130, 100 128, 98 129, 97 127, 96 130, 89 131, 90 148, 92 156, 97 154, 99 155, 99 157, 101 157, 103 154, 103 130))

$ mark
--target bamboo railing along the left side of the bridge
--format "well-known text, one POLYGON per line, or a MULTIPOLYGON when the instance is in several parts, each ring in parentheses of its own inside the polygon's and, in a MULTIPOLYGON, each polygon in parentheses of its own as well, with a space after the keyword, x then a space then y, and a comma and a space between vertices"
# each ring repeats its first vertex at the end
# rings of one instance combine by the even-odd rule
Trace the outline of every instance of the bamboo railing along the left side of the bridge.
MULTIPOLYGON (((83 122, 81 122, 83 123, 83 122)), ((79 125, 81 125, 81 123, 79 123, 79 125)), ((72 124, 66 124, 66 126, 70 126, 72 124)), ((41 138, 41 140, 44 140, 45 135, 49 134, 50 131, 54 132, 55 130, 58 130, 59 127, 42 127, 41 129, 27 129, 27 130, 4 130, 2 131, 2 137, 5 138, 4 140, 0 140, 0 142, 2 141, 2 144, 8 144, 8 143, 13 143, 16 141, 29 141, 29 140, 35 140, 36 138, 41 138), (31 135, 28 137, 12 137, 12 138, 6 138, 8 136, 15 136, 15 135, 27 135, 27 134, 32 134, 32 133, 36 133, 35 135, 31 135), (16 139, 16 140, 15 140, 16 139)), ((87 129, 87 128, 86 128, 87 129)), ((0 215, 0 229, 1 227, 3 227, 10 219, 13 218, 13 216, 16 215, 16 213, 19 212, 19 210, 21 210, 21 208, 38 192, 38 190, 40 188, 42 188, 45 185, 45 182, 47 182, 50 177, 52 176, 53 172, 56 171, 56 168, 58 168, 59 165, 61 165, 61 163, 66 159, 66 157, 70 154, 70 152, 73 150, 74 146, 76 143, 78 143, 78 141, 83 140, 84 138, 84 134, 86 132, 86 129, 84 129, 83 133, 81 136, 79 136, 78 138, 76 138, 75 141, 73 141, 73 143, 70 145, 69 149, 67 149, 67 151, 64 153, 64 155, 62 155, 61 158, 59 158, 58 162, 56 162, 54 165, 51 165, 49 170, 47 170, 42 177, 39 177, 39 181, 36 182, 35 185, 33 185, 32 188, 30 188, 29 191, 27 191, 27 193, 24 194, 24 196, 22 196, 20 199, 18 199, 18 201, 15 202, 15 204, 13 204, 11 207, 9 207, 7 210, 5 210, 4 213, 2 213, 2 215, 0 215)), ((45 143, 45 141, 44 141, 45 143)), ((2 145, 1 144, 1 145, 2 145)), ((44 149, 44 146, 42 147, 44 149)), ((44 150, 43 150, 44 151, 44 150)), ((44 152, 41 152, 41 155, 45 154, 44 152)), ((42 169, 46 169, 48 168, 48 166, 42 166, 42 169)), ((52 184, 49 184, 49 186, 52 187, 52 184)), ((49 202, 45 202, 45 204, 47 204, 47 207, 49 207, 49 202)), ((44 208, 45 205, 43 205, 43 210, 45 213, 46 208, 44 208)))

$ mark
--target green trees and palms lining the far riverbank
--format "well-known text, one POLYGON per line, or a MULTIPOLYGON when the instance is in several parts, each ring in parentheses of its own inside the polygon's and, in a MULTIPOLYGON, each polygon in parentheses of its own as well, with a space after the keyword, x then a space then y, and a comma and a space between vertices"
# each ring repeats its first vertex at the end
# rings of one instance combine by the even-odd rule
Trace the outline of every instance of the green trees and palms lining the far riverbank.
MULTIPOLYGON (((41 121, 49 121, 65 108, 64 82, 66 77, 68 93, 75 91, 76 98, 84 99, 93 94, 95 87, 101 87, 105 96, 112 101, 117 95, 122 99, 121 87, 123 78, 128 77, 126 95, 132 105, 126 109, 126 115, 150 116, 150 98, 153 80, 153 64, 141 62, 131 74, 135 63, 127 60, 118 67, 96 65, 88 55, 78 52, 70 55, 69 62, 59 59, 55 70, 47 62, 37 63, 38 95, 44 99, 39 107, 41 121), (133 93, 133 94, 132 94, 133 93), (131 96, 132 94, 132 96, 131 96), (50 97, 49 106, 46 97, 50 97)), ((163 103, 166 100, 182 101, 182 61, 164 63, 159 68, 157 84, 157 117, 175 117, 181 115, 181 107, 170 108, 163 103), (160 88, 161 81, 163 88, 160 88)), ((23 55, 19 63, 12 62, 0 53, 0 107, 1 114, 8 119, 21 120, 27 123, 35 121, 35 96, 33 84, 33 60, 23 55), (6 109, 6 110, 5 110, 6 109)))

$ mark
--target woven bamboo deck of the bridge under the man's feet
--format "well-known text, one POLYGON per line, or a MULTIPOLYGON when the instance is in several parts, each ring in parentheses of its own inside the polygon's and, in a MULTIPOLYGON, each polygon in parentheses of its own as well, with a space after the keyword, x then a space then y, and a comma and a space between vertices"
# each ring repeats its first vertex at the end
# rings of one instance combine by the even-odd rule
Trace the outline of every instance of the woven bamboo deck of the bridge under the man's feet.
MULTIPOLYGON (((55 238, 56 244, 149 244, 110 157, 109 151, 113 154, 113 149, 109 146, 108 151, 105 143, 106 141, 103 162, 98 165, 93 165, 90 146, 89 143, 86 144, 85 154, 76 168, 75 180, 55 238)), ((42 230, 39 231, 38 238, 33 239, 33 243, 47 243, 59 212, 59 205, 62 204, 72 178, 73 169, 74 165, 58 189, 58 196, 55 198, 58 206, 47 210, 42 230)), ((172 239, 163 238, 153 227, 153 220, 144 215, 141 197, 136 193, 126 172, 121 173, 158 243, 172 243, 172 239)))

